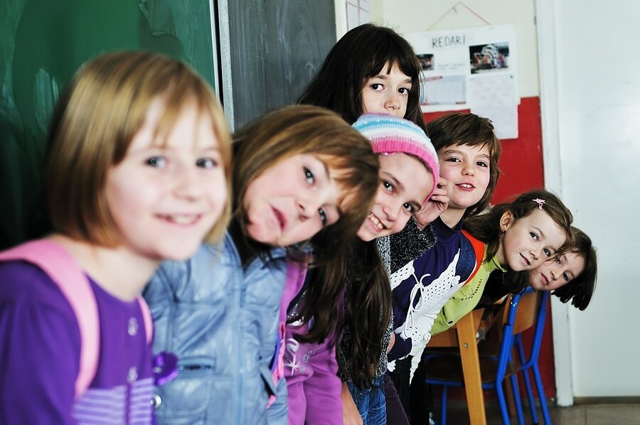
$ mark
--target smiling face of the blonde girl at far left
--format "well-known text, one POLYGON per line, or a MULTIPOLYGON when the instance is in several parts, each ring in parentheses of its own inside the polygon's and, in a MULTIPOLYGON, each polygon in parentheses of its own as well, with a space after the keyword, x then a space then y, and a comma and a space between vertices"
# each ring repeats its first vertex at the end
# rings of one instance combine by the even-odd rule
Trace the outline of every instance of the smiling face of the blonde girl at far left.
POLYGON ((155 134, 163 112, 151 102, 124 159, 107 175, 105 197, 125 249, 154 260, 196 251, 227 202, 213 123, 188 103, 168 134, 155 134))

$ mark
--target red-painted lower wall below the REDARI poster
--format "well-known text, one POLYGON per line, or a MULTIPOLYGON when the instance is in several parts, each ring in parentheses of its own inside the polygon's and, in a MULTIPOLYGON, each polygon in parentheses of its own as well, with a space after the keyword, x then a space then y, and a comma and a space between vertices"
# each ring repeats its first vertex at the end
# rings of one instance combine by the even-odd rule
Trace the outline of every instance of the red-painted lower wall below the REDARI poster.
MULTIPOLYGON (((425 122, 430 122, 446 113, 424 114, 425 122)), ((518 105, 518 139, 504 139, 501 142, 502 156, 498 165, 502 174, 498 180, 494 197, 491 199, 491 203, 494 204, 507 200, 511 195, 517 195, 530 189, 543 188, 545 185, 539 97, 523 97, 521 99, 521 104, 518 105)), ((526 346, 528 346, 527 339, 530 340, 530 334, 525 337, 526 346)), ((545 324, 545 335, 540 349, 540 374, 547 397, 555 397, 555 368, 550 319, 545 324)), ((464 393, 462 394, 464 397, 464 393)), ((486 396, 493 397, 489 394, 486 396)))

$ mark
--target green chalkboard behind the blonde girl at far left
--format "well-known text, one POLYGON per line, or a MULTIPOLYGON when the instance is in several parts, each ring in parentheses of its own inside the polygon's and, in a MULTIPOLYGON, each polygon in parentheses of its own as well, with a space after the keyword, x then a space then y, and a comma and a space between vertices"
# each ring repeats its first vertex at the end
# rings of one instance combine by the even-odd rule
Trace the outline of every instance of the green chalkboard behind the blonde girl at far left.
POLYGON ((208 0, 0 1, 0 249, 46 230, 46 132, 75 70, 107 51, 153 50, 214 86, 211 28, 208 0))

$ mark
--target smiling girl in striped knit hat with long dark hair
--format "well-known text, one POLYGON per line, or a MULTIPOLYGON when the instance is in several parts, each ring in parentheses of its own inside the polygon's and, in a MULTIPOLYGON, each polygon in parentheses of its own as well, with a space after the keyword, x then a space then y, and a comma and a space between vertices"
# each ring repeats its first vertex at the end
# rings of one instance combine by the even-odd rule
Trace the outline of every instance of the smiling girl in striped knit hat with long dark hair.
POLYGON ((287 313, 284 374, 290 424, 342 424, 341 381, 356 406, 365 409, 363 417, 375 414, 385 420, 391 292, 375 240, 402 230, 437 184, 436 151, 416 124, 364 114, 353 127, 379 154, 380 187, 351 244, 285 289, 281 311, 287 313))

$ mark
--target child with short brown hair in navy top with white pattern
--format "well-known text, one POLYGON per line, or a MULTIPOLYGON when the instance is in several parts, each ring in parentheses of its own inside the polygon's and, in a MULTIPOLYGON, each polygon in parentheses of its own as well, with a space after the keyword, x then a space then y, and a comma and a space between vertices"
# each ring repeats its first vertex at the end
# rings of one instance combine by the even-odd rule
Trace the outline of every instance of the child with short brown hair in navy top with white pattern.
POLYGON ((442 213, 437 204, 427 204, 401 232, 380 244, 393 298, 395 343, 389 370, 405 412, 410 377, 435 316, 479 266, 474 246, 462 235, 464 220, 489 205, 500 175, 501 146, 489 119, 445 114, 427 124, 427 136, 438 154, 439 183, 449 204, 442 213))

